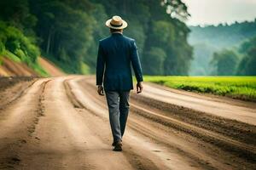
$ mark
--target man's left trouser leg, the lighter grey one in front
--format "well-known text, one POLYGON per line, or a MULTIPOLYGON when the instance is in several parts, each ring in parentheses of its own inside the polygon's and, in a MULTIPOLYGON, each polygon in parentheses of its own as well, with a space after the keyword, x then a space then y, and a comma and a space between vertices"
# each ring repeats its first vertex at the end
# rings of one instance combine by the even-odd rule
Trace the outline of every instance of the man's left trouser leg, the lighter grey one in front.
POLYGON ((119 93, 108 91, 105 93, 108 103, 109 122, 113 134, 113 141, 122 140, 122 134, 119 123, 119 93))

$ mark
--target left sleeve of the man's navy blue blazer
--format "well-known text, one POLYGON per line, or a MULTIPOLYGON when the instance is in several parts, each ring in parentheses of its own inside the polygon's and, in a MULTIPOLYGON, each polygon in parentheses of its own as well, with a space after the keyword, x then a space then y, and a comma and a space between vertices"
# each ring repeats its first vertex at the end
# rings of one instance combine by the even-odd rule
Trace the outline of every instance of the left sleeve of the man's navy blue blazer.
POLYGON ((104 57, 101 42, 99 42, 97 63, 96 63, 96 85, 102 85, 104 70, 105 70, 105 57, 104 57))

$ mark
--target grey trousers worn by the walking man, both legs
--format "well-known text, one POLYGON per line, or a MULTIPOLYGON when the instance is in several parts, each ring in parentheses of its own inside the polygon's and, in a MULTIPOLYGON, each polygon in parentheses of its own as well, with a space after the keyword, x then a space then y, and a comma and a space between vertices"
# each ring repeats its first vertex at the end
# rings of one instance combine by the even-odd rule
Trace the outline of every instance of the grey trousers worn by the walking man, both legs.
POLYGON ((121 141, 129 114, 130 91, 106 91, 113 141, 121 141))

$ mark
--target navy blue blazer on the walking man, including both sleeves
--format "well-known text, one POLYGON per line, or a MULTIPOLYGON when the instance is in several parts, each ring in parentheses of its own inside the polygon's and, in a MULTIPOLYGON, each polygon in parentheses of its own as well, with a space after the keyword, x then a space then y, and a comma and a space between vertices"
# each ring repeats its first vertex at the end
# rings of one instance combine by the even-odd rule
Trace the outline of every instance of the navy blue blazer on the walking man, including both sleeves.
POLYGON ((96 85, 105 91, 133 89, 131 65, 137 82, 143 82, 142 66, 134 39, 120 33, 100 40, 96 63, 96 85))

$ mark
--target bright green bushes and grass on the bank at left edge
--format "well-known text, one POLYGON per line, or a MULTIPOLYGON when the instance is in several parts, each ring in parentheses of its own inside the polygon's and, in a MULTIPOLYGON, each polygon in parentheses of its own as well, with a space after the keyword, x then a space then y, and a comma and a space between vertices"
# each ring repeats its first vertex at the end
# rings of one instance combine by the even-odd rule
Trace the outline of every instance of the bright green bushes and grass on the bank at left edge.
POLYGON ((38 64, 40 50, 33 37, 26 37, 14 26, 0 21, 0 65, 3 56, 18 62, 26 63, 38 75, 48 77, 49 74, 38 64))

